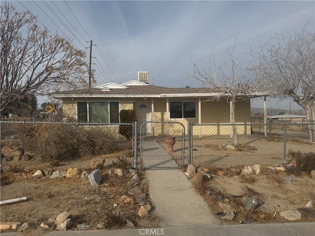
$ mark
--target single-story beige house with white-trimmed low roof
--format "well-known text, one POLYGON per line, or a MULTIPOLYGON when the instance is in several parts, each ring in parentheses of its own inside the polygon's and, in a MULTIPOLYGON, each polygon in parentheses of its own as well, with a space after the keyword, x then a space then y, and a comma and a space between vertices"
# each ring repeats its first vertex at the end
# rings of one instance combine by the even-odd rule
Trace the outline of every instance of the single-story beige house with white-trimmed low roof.
MULTIPOLYGON (((63 100, 63 113, 78 122, 119 123, 121 110, 133 109, 138 119, 138 132, 146 121, 179 121, 186 130, 191 123, 228 124, 230 104, 226 99, 211 101, 220 91, 209 88, 166 88, 137 80, 123 84, 107 83, 91 89, 71 90, 50 94, 63 100)), ((250 96, 235 104, 235 120, 251 123, 250 96)), ((143 132, 166 134, 160 123, 147 123, 143 132)), ((238 126, 239 134, 251 134, 251 126, 238 126)), ((202 134, 229 134, 228 127, 203 129, 202 134)), ((174 134, 175 135, 175 134, 174 134)))

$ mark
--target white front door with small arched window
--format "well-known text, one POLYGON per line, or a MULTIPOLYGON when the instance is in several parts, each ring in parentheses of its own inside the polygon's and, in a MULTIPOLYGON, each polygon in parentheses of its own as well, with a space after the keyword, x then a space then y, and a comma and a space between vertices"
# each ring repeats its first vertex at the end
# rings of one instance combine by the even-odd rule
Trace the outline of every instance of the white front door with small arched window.
MULTIPOLYGON (((136 101, 135 102, 137 119, 138 119, 138 132, 140 133, 141 125, 151 120, 151 101, 136 101)), ((143 134, 151 134, 152 124, 147 123, 142 127, 143 134)))

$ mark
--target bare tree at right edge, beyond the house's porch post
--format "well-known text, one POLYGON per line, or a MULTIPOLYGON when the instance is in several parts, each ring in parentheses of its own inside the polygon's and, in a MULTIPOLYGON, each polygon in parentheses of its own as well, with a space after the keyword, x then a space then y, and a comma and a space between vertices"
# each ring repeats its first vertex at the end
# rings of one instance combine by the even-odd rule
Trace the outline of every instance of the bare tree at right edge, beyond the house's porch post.
POLYGON ((309 124, 310 141, 315 141, 315 32, 304 25, 301 31, 272 37, 252 50, 257 77, 265 88, 280 99, 292 98, 304 108, 309 124), (312 124, 313 123, 313 124, 312 124))

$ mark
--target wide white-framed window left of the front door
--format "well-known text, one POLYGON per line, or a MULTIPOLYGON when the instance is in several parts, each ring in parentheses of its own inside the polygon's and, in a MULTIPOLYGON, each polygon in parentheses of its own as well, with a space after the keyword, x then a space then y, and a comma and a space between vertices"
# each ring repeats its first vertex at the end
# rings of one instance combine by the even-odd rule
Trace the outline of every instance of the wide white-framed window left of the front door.
POLYGON ((119 123, 119 102, 78 102, 77 112, 78 122, 119 123))

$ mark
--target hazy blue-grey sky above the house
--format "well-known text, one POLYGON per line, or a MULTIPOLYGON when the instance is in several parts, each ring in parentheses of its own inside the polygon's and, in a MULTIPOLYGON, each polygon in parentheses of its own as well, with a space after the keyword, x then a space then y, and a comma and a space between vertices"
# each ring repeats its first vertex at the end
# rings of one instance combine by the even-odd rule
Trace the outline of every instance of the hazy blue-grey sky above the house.
MULTIPOLYGON (((283 29, 301 29, 312 21, 315 29, 315 1, 47 1, 77 39, 65 29, 42 1, 9 1, 18 9, 22 4, 48 29, 61 30, 81 49, 93 39, 97 84, 124 83, 137 79, 137 71, 149 71, 150 83, 165 87, 200 87, 185 77, 192 70, 189 58, 207 59, 209 46, 224 51, 230 35, 238 35, 236 54, 244 61, 258 41, 266 42, 283 29), (58 8, 57 8, 57 7, 58 8), (67 20, 79 32, 70 26, 67 20), (59 26, 58 29, 53 22, 59 26), (99 50, 99 51, 98 51, 99 50), (105 61, 107 63, 105 63, 105 61), (98 65, 99 62, 99 65, 98 65), (100 68, 102 67, 102 68, 100 68), (109 69, 110 68, 110 69, 109 69)), ((87 51, 88 52, 88 51, 87 51)), ((268 107, 299 109, 292 101, 268 107)), ((260 99, 252 104, 261 106, 260 99)))

